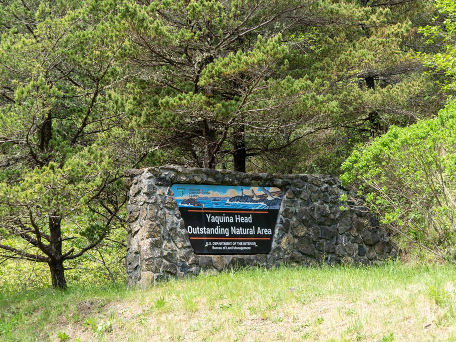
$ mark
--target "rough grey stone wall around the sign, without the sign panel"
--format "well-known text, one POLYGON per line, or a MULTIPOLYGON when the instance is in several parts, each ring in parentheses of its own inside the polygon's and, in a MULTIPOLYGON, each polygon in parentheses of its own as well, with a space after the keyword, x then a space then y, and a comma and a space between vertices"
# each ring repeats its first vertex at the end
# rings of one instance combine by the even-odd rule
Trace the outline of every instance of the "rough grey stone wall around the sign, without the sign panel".
POLYGON ((397 253, 387 232, 365 208, 340 208, 344 204, 340 195, 349 191, 334 176, 164 166, 128 170, 126 184, 130 187, 126 218, 130 286, 146 287, 161 278, 240 266, 372 264, 397 253), (195 255, 171 190, 175 183, 280 187, 285 196, 271 252, 195 255))

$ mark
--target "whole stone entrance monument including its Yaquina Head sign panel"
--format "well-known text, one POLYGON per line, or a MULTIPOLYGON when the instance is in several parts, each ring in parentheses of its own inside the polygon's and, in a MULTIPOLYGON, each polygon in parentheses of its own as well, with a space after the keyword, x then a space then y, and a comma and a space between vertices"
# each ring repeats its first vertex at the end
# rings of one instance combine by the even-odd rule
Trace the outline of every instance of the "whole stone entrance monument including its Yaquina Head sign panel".
POLYGON ((388 233, 334 176, 174 166, 128 170, 128 284, 232 267, 372 264, 388 233))

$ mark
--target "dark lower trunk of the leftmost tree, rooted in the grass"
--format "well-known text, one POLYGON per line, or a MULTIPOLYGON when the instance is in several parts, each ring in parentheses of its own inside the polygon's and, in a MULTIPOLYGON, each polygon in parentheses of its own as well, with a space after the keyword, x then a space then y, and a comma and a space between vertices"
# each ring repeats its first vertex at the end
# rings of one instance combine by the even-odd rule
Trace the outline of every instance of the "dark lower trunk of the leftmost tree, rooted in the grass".
POLYGON ((52 211, 49 215, 49 230, 51 232, 49 249, 51 251, 51 260, 48 264, 51 270, 52 287, 65 289, 67 288, 67 281, 65 280, 65 270, 63 268, 61 222, 62 217, 57 216, 57 213, 52 211))

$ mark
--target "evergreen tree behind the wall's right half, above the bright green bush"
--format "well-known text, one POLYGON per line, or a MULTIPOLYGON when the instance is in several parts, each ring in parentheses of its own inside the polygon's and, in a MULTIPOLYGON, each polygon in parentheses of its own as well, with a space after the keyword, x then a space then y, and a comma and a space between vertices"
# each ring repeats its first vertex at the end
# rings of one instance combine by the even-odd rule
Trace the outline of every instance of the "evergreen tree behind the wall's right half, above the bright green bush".
MULTIPOLYGON (((391 125, 433 116, 444 104, 436 75, 424 73, 418 56, 429 50, 418 28, 432 20, 430 2, 325 3, 321 16, 332 24, 301 34, 306 46, 293 54, 290 69, 293 77, 325 82, 325 94, 338 110, 325 117, 326 127, 297 140, 286 153, 264 155, 257 163, 265 169, 287 165, 289 172, 338 174, 356 144, 391 125)), ((289 139, 296 137, 292 132, 289 139)))

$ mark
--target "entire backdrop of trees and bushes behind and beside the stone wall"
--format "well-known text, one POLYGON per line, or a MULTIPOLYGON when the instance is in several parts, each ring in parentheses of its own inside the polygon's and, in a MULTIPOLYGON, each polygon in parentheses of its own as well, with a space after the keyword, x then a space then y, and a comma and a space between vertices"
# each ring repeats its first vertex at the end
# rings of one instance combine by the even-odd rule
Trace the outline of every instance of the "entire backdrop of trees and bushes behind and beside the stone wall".
POLYGON ((449 0, 0 1, 0 286, 123 282, 122 175, 163 164, 341 175, 406 255, 453 263, 455 23, 449 0))

